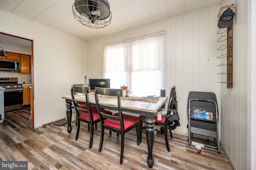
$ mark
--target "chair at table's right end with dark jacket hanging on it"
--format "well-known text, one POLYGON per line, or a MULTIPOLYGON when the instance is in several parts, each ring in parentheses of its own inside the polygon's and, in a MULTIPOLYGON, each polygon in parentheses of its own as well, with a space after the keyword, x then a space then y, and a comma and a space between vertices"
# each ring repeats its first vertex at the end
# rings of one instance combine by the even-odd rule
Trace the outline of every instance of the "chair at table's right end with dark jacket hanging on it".
MULTIPOLYGON (((177 112, 178 105, 177 105, 177 101, 176 102, 175 101, 176 101, 176 86, 172 87, 171 89, 166 116, 163 116, 162 120, 158 120, 157 116, 154 117, 156 121, 155 125, 164 127, 164 137, 165 137, 165 143, 166 143, 166 148, 168 152, 170 152, 170 146, 169 146, 168 135, 167 135, 168 129, 169 129, 171 138, 173 138, 172 130, 174 130, 177 126, 180 126, 180 123, 177 121, 176 117, 172 121, 169 121, 170 119, 168 119, 168 117, 173 118, 171 113, 173 113, 173 115, 174 114, 178 115, 178 112, 177 112)), ((146 123, 145 115, 140 115, 139 117, 140 119, 142 119, 142 123, 146 123)))

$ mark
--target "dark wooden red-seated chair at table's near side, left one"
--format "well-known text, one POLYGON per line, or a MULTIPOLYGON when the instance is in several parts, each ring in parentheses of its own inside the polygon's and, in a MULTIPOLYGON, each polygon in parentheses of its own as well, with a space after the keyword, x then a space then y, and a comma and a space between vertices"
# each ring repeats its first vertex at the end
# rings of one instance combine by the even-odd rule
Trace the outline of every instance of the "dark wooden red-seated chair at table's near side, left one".
MULTIPOLYGON (((93 141, 93 133, 94 133, 94 124, 95 126, 97 123, 100 122, 100 115, 98 113, 98 110, 96 108, 93 108, 90 106, 90 100, 88 95, 88 88, 87 87, 79 87, 79 86, 72 86, 71 88, 71 97, 72 101, 76 110, 77 114, 77 131, 76 131, 76 140, 78 139, 79 131, 80 131, 80 121, 83 121, 88 124, 88 131, 91 129, 90 134, 90 145, 89 149, 92 148, 92 141, 93 141), (75 93, 84 93, 85 101, 76 100, 74 98, 75 93), (82 107, 79 107, 79 105, 83 105, 82 107), (85 107, 86 106, 86 107, 85 107), (89 108, 89 109, 88 109, 89 108)), ((102 110, 105 114, 112 115, 111 111, 102 110)))

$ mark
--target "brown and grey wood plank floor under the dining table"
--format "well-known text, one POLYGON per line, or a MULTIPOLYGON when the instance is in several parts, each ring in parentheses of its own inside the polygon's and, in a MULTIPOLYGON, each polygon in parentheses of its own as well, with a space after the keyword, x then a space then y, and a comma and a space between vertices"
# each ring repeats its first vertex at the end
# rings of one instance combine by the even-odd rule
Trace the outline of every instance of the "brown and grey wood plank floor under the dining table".
MULTIPOLYGON (((136 131, 125 135, 124 163, 120 162, 120 141, 115 133, 112 136, 105 131, 102 152, 98 152, 100 143, 100 125, 94 130, 92 149, 88 149, 90 132, 87 124, 81 122, 80 134, 75 141, 76 121, 72 121, 72 132, 68 134, 67 124, 56 126, 45 125, 32 129, 28 124, 29 108, 5 113, 4 123, 0 124, 0 160, 28 161, 28 169, 60 170, 142 170, 149 169, 147 164, 148 149, 145 129, 142 143, 136 143, 136 131)), ((220 148, 217 150, 205 147, 198 154, 194 146, 188 146, 188 137, 173 134, 169 137, 171 152, 165 145, 164 135, 158 131, 154 141, 154 165, 156 170, 230 170, 232 166, 220 148)))

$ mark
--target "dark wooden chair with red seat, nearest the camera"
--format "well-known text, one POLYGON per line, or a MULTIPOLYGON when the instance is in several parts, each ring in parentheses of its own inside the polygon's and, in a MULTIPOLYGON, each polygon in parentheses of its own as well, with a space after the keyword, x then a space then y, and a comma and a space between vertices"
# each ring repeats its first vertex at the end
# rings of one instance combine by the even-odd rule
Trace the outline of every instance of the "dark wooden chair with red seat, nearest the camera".
POLYGON ((122 96, 122 89, 111 89, 111 88, 95 88, 95 100, 96 107, 100 114, 100 122, 101 122, 101 137, 100 137, 100 147, 99 152, 102 150, 103 140, 104 140, 104 129, 108 129, 110 131, 116 132, 121 135, 121 155, 120 155, 120 164, 123 163, 124 158, 124 134, 131 129, 136 127, 137 133, 137 145, 141 143, 141 128, 142 121, 139 117, 126 115, 122 113, 121 100, 120 96, 122 96), (118 106, 110 106, 106 104, 102 104, 99 101, 98 94, 106 95, 106 96, 117 96, 117 105, 118 106), (110 109, 114 111, 118 111, 114 115, 107 115, 101 111, 101 108, 110 109))

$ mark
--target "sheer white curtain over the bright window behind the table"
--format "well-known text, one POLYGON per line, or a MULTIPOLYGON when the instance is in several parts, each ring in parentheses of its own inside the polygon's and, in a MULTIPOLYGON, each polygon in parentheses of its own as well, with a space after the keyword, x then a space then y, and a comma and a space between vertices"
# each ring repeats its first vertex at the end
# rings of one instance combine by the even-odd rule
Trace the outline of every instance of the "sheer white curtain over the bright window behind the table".
POLYGON ((129 94, 160 96, 167 83, 166 31, 104 45, 103 76, 111 88, 129 94))

